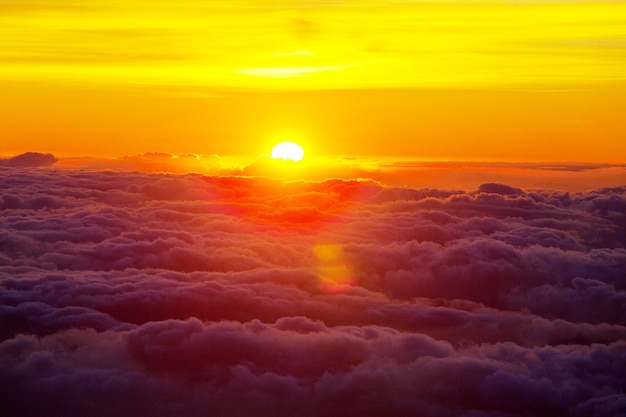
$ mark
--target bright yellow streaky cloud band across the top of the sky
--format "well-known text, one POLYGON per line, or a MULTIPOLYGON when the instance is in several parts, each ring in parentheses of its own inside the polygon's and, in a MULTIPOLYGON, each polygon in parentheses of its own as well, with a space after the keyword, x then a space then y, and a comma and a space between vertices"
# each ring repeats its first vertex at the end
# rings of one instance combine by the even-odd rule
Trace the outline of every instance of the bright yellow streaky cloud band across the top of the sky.
POLYGON ((251 88, 616 82, 625 14, 621 2, 13 2, 0 18, 0 76, 251 88), (343 70, 297 86, 238 74, 297 67, 343 70))

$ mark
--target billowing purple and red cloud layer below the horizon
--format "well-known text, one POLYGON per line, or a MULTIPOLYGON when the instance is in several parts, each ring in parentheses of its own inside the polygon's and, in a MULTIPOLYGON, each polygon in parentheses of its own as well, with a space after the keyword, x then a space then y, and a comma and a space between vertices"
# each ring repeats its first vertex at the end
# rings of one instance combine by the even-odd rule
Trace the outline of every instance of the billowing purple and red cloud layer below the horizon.
POLYGON ((626 412, 626 188, 0 170, 9 416, 626 412))

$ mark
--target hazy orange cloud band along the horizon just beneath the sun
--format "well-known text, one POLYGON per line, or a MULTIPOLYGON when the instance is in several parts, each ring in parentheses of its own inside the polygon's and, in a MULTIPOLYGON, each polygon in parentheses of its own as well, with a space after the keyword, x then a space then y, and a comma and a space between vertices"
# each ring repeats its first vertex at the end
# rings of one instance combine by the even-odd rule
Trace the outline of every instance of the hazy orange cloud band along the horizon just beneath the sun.
POLYGON ((261 176, 282 180, 324 181, 369 178, 393 187, 475 190, 486 182, 521 188, 589 191, 626 183, 626 165, 577 162, 409 161, 394 158, 305 156, 296 163, 258 157, 148 152, 115 159, 62 158, 59 168, 199 173, 209 176, 261 176))

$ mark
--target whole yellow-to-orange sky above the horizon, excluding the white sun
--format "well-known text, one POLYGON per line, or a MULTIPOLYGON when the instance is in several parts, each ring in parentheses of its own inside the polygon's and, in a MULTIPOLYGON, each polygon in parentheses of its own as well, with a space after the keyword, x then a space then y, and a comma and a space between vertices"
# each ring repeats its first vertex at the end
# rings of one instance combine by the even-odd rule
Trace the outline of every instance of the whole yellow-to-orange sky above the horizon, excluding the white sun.
POLYGON ((0 154, 626 162, 626 3, 0 3, 0 154))

